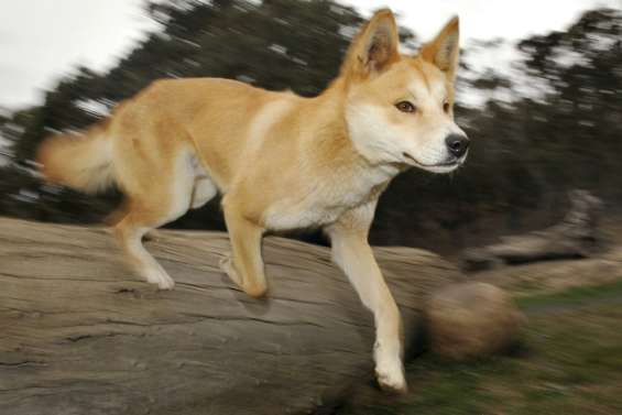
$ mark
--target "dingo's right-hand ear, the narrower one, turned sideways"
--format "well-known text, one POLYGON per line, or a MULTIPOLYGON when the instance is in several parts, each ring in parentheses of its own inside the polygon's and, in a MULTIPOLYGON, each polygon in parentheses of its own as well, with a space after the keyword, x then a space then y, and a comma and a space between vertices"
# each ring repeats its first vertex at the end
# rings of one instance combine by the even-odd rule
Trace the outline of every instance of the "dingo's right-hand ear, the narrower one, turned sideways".
POLYGON ((451 19, 436 37, 426 43, 419 55, 427 62, 436 65, 447 76, 454 79, 458 66, 458 54, 460 52, 460 23, 458 17, 451 19))

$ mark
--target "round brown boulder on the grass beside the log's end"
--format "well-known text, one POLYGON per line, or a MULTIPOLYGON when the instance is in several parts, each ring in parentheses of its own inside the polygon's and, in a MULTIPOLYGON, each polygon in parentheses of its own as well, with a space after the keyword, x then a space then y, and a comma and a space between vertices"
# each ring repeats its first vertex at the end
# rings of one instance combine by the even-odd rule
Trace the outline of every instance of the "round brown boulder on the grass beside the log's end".
POLYGON ((469 282, 435 292, 426 321, 432 350, 461 359, 506 350, 519 339, 525 317, 503 290, 469 282))

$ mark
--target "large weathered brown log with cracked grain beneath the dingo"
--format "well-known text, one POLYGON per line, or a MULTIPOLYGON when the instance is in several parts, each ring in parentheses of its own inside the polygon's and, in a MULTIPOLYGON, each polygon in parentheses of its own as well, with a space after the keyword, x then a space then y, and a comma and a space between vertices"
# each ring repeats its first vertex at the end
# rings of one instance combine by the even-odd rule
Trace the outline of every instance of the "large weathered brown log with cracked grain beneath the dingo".
MULTIPOLYGON (((0 414, 313 413, 373 379, 372 316, 328 249, 266 238, 270 291, 253 299, 218 269, 226 233, 146 247, 174 291, 139 281, 102 228, 0 218, 0 414)), ((423 297, 460 276, 425 251, 374 250, 413 351, 423 297)))

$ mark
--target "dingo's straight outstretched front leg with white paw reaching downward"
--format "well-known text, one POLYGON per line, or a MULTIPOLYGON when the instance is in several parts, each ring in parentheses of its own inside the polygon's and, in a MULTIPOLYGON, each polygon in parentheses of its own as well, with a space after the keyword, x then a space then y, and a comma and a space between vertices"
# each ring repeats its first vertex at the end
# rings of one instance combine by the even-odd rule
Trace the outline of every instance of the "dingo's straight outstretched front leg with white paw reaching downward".
POLYGON ((368 243, 374 208, 375 201, 350 210, 327 231, 335 262, 343 270, 365 307, 373 313, 378 382, 383 389, 405 392, 400 312, 368 243))

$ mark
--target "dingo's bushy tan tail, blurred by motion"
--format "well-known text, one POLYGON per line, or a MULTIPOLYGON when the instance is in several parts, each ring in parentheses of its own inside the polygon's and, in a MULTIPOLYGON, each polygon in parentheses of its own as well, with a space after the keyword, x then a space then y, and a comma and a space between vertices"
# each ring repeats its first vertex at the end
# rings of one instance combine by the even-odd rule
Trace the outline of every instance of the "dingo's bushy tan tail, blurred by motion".
POLYGON ((56 134, 43 141, 36 154, 46 181, 85 193, 102 192, 114 184, 112 140, 107 122, 83 134, 56 134))

